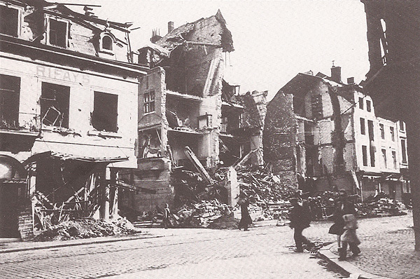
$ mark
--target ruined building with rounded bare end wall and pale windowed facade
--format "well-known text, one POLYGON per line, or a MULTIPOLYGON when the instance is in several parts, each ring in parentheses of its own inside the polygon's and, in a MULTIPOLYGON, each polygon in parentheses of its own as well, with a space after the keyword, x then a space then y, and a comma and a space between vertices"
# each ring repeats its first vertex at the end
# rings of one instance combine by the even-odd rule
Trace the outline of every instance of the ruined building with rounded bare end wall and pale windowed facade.
POLYGON ((384 191, 401 199, 409 191, 406 142, 404 122, 377 117, 353 78, 342 83, 340 67, 331 76, 297 74, 267 106, 265 161, 311 193, 384 191))

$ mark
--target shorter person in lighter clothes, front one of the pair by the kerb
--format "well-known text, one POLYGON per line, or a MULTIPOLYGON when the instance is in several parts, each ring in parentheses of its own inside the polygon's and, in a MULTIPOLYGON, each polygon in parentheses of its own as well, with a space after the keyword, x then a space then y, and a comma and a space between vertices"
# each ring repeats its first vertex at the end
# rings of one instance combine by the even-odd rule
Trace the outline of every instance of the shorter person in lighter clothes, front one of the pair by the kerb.
POLYGON ((344 261, 347 257, 347 245, 350 246, 353 256, 358 256, 358 254, 360 254, 360 249, 358 247, 360 240, 356 234, 356 229, 358 228, 356 217, 354 214, 346 214, 343 215, 343 219, 344 233, 342 236, 342 247, 341 250, 339 250, 339 261, 344 261))

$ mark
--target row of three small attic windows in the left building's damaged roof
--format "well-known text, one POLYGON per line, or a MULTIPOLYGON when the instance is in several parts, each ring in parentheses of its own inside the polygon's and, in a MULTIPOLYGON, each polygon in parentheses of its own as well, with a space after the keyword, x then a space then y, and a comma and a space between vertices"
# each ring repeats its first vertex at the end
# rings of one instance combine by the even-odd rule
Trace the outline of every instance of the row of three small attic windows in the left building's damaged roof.
MULTIPOLYGON (((0 34, 18 36, 19 14, 18 8, 0 5, 0 34)), ((69 37, 69 22, 67 20, 48 18, 45 29, 47 30, 48 44, 61 48, 67 47, 69 37)), ((114 40, 109 34, 102 34, 99 38, 99 50, 112 51, 113 42, 114 40)))

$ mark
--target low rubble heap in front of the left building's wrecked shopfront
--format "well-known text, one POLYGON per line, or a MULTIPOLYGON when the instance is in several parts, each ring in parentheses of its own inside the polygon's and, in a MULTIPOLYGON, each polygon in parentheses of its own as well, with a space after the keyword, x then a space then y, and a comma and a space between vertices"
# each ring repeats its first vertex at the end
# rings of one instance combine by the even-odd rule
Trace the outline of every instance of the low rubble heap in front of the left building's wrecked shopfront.
POLYGON ((61 222, 42 231, 36 241, 70 240, 96 238, 100 236, 120 236, 141 233, 125 218, 106 222, 102 219, 75 219, 61 222))

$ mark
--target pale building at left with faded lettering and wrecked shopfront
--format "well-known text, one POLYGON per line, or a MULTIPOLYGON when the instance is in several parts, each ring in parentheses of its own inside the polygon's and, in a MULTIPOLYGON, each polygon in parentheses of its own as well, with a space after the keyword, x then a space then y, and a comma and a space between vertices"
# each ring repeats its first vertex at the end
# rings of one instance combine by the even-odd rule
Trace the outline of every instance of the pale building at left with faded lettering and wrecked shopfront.
POLYGON ((118 208, 137 168, 130 24, 45 1, 0 1, 0 237, 118 208), (18 202, 17 202, 18 201, 18 202))

